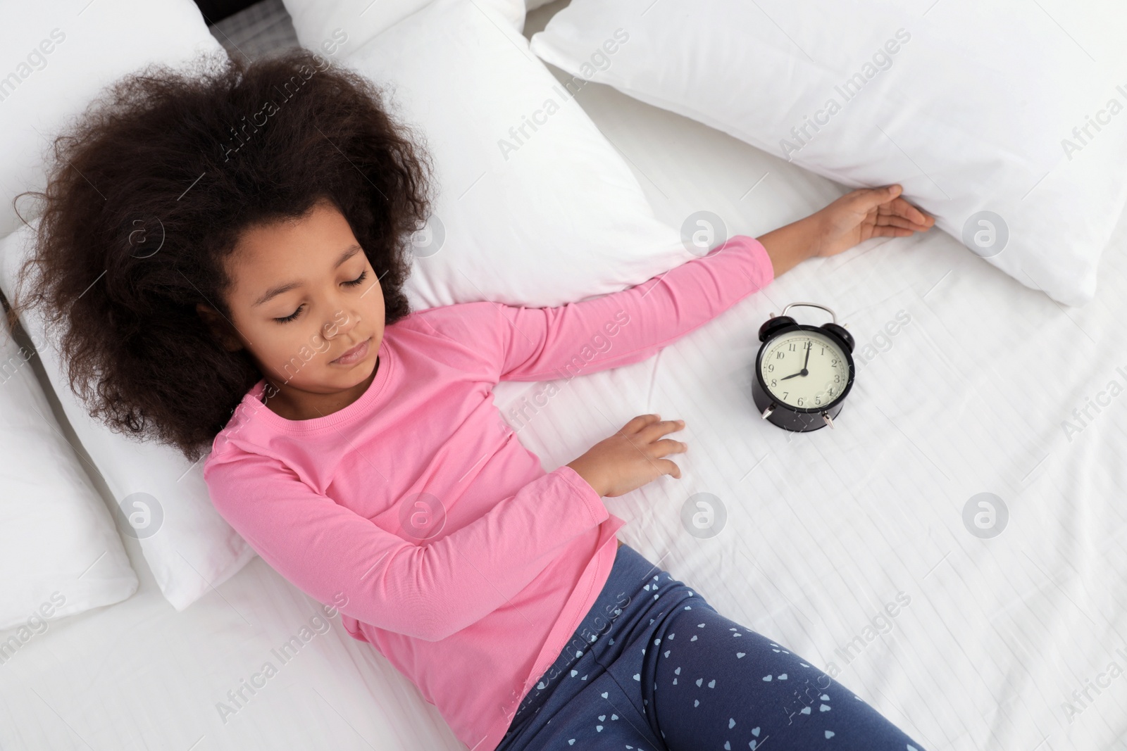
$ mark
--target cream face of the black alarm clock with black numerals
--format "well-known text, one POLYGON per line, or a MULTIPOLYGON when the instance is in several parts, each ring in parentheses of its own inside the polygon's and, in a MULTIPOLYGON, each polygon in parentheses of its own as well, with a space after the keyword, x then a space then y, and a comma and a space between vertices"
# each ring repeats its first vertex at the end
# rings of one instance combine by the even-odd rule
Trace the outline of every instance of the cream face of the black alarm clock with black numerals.
POLYGON ((849 384, 849 360, 828 334, 790 331, 763 350, 760 373, 777 402, 813 410, 841 396, 849 384))

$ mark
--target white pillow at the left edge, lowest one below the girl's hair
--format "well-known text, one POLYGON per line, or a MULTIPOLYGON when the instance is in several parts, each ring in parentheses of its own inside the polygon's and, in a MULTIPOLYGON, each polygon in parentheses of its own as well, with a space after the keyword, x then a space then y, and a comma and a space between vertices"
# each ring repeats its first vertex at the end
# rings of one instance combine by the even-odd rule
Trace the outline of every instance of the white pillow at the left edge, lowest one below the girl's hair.
POLYGON ((0 641, 0 662, 47 619, 118 602, 137 588, 113 518, 39 387, 34 357, 0 323, 0 628, 18 626, 0 641))

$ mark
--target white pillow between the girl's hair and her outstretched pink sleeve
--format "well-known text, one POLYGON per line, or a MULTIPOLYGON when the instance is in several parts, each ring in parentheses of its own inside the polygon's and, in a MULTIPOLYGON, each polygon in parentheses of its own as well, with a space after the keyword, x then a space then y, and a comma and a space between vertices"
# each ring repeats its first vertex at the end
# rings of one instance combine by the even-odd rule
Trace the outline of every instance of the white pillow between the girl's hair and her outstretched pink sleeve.
POLYGON ((436 0, 344 64, 391 84, 394 114, 417 126, 433 158, 438 196, 415 235, 405 288, 414 306, 564 305, 694 257, 654 218, 629 166, 527 41, 489 8, 436 0), (533 120, 542 124, 525 125, 533 120))

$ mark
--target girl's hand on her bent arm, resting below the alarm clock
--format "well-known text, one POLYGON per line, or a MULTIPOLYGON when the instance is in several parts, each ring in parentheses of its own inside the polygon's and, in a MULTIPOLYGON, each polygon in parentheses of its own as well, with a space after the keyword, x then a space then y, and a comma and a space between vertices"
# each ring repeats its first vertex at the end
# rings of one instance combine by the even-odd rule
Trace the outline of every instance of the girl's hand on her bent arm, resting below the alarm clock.
POLYGON ((664 474, 680 480, 681 467, 662 457, 686 452, 689 446, 658 439, 684 427, 684 420, 663 421, 658 414, 639 414, 568 466, 595 492, 609 498, 629 493, 664 474))

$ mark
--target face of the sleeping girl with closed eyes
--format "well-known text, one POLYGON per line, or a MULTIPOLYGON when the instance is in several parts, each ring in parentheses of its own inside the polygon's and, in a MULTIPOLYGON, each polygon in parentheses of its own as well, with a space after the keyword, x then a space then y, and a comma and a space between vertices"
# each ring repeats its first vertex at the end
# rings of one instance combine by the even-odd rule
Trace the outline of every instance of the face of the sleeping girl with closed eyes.
POLYGON ((207 306, 197 310, 227 349, 248 350, 277 388, 267 406, 308 420, 364 393, 383 340, 383 293, 331 203, 316 204, 299 220, 247 230, 227 269, 231 325, 207 306))

